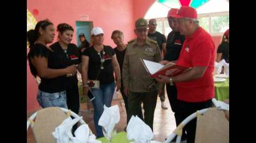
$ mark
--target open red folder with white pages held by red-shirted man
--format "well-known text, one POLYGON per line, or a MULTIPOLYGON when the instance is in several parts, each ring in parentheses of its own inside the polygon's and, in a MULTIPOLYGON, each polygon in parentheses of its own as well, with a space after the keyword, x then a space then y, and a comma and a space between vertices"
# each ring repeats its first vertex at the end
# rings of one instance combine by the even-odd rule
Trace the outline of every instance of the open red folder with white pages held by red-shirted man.
POLYGON ((154 78, 158 75, 164 75, 164 76, 176 76, 180 73, 183 73, 185 71, 188 71, 189 67, 184 67, 182 65, 176 65, 175 63, 169 62, 167 65, 162 65, 157 62, 152 62, 149 60, 144 60, 140 58, 141 62, 143 63, 145 70, 147 70, 147 73, 154 78), (172 73, 170 75, 166 75, 166 71, 172 70, 172 73))

